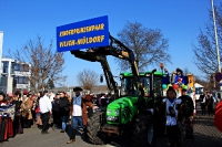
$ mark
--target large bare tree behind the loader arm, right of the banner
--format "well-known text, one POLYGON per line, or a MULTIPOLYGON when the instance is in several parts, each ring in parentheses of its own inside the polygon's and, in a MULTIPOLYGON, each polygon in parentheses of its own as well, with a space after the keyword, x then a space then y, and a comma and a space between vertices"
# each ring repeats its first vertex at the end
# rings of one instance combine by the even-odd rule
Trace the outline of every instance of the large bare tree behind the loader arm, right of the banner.
MULTIPOLYGON (((168 39, 163 38, 161 30, 144 28, 141 23, 127 22, 124 28, 118 33, 119 40, 131 49, 135 55, 135 62, 140 71, 149 65, 171 62, 168 53, 168 39)), ((115 59, 120 70, 130 67, 127 61, 115 59)))

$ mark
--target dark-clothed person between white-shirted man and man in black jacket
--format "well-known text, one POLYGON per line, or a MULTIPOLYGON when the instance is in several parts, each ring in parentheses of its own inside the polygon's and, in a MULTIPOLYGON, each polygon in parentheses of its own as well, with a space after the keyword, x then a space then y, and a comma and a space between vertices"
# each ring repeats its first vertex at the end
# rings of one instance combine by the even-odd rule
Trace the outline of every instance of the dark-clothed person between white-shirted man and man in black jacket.
POLYGON ((52 102, 52 114, 53 114, 53 128, 58 129, 60 126, 60 113, 59 113, 59 102, 60 102, 60 93, 56 94, 56 97, 52 102))

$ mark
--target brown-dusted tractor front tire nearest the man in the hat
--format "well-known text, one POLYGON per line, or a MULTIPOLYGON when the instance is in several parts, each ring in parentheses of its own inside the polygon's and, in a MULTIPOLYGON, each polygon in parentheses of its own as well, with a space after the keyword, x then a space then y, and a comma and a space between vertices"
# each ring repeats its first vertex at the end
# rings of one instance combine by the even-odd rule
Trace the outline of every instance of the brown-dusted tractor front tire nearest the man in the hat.
POLYGON ((104 144, 102 133, 100 133, 102 115, 103 115, 102 112, 97 112, 90 118, 88 118, 87 135, 88 139, 94 145, 104 144))

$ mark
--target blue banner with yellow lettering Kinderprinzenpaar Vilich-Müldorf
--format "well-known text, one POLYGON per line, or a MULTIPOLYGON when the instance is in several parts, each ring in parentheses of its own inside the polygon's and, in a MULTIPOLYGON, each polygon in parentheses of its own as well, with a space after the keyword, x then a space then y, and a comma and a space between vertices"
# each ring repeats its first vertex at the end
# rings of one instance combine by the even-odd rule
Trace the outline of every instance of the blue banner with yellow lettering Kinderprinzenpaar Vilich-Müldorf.
POLYGON ((58 52, 108 45, 108 15, 57 27, 58 52))

